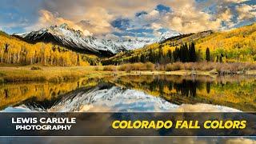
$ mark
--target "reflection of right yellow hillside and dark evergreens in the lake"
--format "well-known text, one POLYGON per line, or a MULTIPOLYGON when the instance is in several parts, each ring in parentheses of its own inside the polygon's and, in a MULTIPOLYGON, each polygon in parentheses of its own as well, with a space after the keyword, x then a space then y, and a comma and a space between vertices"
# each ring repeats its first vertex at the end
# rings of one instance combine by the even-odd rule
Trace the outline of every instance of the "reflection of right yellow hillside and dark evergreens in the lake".
POLYGON ((208 103, 244 111, 256 110, 254 77, 210 78, 157 75, 124 76, 108 80, 118 86, 160 96, 177 105, 208 103))

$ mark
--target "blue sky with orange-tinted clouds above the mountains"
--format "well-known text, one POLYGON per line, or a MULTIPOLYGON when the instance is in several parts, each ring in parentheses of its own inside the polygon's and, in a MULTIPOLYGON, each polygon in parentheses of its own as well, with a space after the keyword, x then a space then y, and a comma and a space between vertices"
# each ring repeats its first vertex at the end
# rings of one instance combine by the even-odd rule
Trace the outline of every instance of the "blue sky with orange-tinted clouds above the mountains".
POLYGON ((67 23, 85 35, 156 38, 230 30, 256 21, 255 0, 1 0, 0 30, 30 32, 67 23))

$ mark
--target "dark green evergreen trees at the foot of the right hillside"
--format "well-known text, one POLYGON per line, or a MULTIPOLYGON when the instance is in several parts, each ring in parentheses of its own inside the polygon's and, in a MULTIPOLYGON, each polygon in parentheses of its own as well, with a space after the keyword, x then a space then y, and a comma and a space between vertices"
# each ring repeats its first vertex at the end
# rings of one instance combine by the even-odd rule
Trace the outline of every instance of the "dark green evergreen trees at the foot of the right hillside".
MULTIPOLYGON (((224 55, 220 55, 218 57, 218 62, 222 62, 222 57, 224 55)), ((206 61, 210 62, 210 49, 206 49, 206 61)), ((102 61, 103 65, 119 65, 123 63, 136 63, 136 62, 152 62, 155 64, 166 65, 168 63, 173 62, 201 62, 202 56, 195 49, 194 42, 185 43, 181 46, 176 46, 175 49, 167 50, 167 52, 163 51, 163 46, 159 45, 157 50, 150 49, 147 53, 143 53, 141 55, 130 56, 127 58, 114 58, 107 59, 102 61)))

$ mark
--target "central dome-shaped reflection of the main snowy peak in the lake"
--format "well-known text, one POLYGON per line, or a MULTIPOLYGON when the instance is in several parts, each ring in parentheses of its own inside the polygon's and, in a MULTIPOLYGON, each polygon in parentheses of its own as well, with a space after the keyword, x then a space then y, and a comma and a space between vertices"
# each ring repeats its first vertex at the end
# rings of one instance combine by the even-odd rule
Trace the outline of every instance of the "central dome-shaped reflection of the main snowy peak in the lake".
POLYGON ((78 90, 66 95, 49 111, 81 111, 86 107, 101 107, 101 111, 165 111, 177 105, 142 91, 102 84, 88 91, 78 90))

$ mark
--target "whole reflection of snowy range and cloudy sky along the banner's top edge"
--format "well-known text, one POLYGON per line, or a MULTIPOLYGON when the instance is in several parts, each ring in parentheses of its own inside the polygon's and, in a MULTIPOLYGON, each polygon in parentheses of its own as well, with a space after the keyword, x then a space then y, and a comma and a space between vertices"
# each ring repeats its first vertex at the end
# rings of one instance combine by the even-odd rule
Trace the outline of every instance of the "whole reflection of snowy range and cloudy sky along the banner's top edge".
POLYGON ((126 89, 114 86, 110 83, 101 83, 91 89, 85 87, 73 90, 62 95, 54 102, 31 102, 7 107, 3 111, 51 111, 51 112, 74 112, 74 111, 211 111, 211 112, 241 112, 226 106, 211 105, 206 103, 182 104, 170 103, 163 98, 146 94, 140 90, 126 89))

